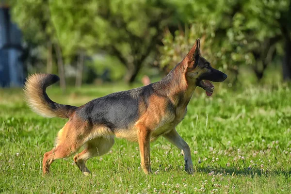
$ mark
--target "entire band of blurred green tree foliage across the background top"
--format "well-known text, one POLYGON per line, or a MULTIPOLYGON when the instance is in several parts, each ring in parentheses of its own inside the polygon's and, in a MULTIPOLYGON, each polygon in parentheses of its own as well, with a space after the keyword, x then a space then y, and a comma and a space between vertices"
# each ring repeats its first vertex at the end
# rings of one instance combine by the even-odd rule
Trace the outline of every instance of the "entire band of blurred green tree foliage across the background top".
MULTIPOLYGON (((10 3, 25 40, 36 44, 43 58, 48 41, 59 44, 65 61, 72 64, 80 51, 88 56, 105 51, 125 66, 125 79, 129 82, 154 59, 168 72, 182 60, 196 38, 201 38, 202 54, 213 66, 234 73, 233 81, 237 80, 238 67, 244 65, 251 67, 260 80, 267 66, 287 56, 286 48, 291 47, 290 0, 10 3), (169 30, 163 33, 167 27, 169 30)), ((285 61, 291 71, 291 62, 285 61)))

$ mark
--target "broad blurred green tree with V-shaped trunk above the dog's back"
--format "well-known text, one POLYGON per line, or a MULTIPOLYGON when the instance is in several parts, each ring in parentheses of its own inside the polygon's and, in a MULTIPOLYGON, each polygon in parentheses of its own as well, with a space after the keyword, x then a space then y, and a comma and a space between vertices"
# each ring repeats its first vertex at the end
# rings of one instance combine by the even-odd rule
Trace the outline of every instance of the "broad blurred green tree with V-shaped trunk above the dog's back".
POLYGON ((104 49, 125 65, 127 82, 157 53, 162 29, 171 18, 159 0, 63 0, 50 5, 65 55, 76 49, 104 49))

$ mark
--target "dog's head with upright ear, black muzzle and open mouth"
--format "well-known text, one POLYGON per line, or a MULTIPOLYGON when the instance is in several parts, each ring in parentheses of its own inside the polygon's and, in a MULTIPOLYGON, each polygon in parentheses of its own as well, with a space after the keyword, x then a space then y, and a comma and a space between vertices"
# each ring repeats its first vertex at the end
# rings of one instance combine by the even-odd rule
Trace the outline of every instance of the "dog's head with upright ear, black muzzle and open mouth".
POLYGON ((185 57, 186 72, 188 81, 203 88, 207 96, 211 96, 214 86, 211 81, 225 81, 227 75, 217 69, 214 69, 210 63, 200 55, 200 40, 197 39, 192 49, 185 57))

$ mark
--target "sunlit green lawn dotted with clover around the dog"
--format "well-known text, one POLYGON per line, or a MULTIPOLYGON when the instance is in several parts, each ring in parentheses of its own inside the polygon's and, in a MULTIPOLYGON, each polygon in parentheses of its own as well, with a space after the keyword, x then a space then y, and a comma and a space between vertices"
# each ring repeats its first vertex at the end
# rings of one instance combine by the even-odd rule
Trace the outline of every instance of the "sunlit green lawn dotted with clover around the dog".
MULTIPOLYGON (((180 151, 164 138, 151 144, 153 173, 140 170, 137 143, 115 139, 112 150, 87 162, 85 177, 62 159, 43 176, 43 154, 66 120, 32 113, 22 91, 0 90, 0 192, 3 193, 290 193, 291 90, 288 86, 248 86, 232 91, 216 85, 212 97, 201 89, 177 126, 191 147, 194 175, 183 169, 180 151)), ((129 89, 117 85, 69 89, 53 100, 81 105, 90 99, 129 89)))

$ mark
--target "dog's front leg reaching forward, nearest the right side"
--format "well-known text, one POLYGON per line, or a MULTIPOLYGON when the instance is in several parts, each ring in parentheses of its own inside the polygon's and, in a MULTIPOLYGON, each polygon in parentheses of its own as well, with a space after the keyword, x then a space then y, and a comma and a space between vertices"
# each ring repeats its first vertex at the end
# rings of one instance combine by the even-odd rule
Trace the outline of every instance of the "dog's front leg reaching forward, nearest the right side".
POLYGON ((181 150, 182 154, 184 155, 185 170, 188 173, 193 174, 193 163, 191 159, 190 147, 188 144, 181 138, 176 129, 171 130, 163 136, 181 150))

